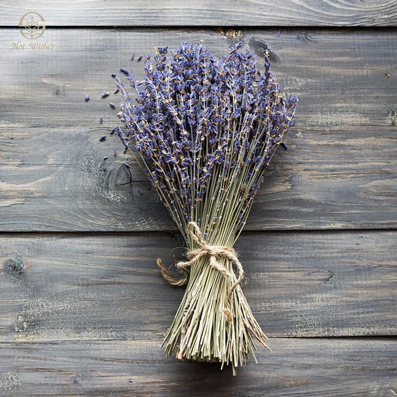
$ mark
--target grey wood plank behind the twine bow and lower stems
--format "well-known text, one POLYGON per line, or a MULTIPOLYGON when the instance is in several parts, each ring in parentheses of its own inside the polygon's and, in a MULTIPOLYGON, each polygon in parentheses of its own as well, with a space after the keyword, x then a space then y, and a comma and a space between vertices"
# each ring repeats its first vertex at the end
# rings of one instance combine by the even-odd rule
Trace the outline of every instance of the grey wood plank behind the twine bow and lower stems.
MULTIPOLYGON (((145 339, 167 330, 184 293, 167 234, 5 234, 0 340, 145 339)), ((180 247, 179 249, 175 249, 180 247)), ((397 232, 245 233, 244 291, 269 336, 396 335, 397 232)))

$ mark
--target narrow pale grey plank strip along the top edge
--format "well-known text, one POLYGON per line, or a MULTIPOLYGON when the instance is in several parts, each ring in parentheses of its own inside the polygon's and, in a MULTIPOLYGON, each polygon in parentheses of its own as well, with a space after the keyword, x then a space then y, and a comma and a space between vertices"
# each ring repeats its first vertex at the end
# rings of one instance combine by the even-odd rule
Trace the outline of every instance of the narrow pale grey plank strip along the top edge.
POLYGON ((48 26, 396 26, 392 0, 2 1, 2 26, 27 11, 48 26))

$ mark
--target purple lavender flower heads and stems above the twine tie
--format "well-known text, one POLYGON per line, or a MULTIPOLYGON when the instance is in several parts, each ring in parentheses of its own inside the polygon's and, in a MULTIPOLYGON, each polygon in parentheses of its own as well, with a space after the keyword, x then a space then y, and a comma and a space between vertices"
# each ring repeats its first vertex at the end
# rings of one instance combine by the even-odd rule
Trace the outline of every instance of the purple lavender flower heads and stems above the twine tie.
POLYGON ((116 74, 125 125, 118 134, 126 149, 140 153, 174 219, 200 220, 208 237, 225 216, 235 220, 236 231, 243 227, 265 169, 294 125, 298 102, 270 72, 267 47, 262 73, 241 47, 220 58, 202 42, 184 43, 168 58, 167 47, 158 48, 153 63, 144 58, 143 81, 129 73, 131 93, 116 74))

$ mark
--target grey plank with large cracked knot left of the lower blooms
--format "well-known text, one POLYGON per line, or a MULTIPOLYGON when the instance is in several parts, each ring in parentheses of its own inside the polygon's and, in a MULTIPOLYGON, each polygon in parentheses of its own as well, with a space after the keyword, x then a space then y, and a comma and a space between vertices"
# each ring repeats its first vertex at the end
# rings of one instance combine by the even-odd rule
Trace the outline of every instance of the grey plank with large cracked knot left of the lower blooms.
MULTIPOLYGON (((140 168, 132 163, 130 175, 123 165, 121 142, 116 136, 99 142, 102 132, 7 130, 0 138, 0 229, 175 230, 140 168)), ((246 229, 396 227, 396 133, 395 127, 291 132, 246 229)))

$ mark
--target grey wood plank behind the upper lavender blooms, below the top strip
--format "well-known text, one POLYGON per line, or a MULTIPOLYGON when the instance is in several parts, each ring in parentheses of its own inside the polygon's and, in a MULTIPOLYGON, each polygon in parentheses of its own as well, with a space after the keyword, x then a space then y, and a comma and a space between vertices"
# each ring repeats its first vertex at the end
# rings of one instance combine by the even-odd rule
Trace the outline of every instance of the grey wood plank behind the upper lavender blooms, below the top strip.
POLYGON ((208 29, 48 29, 33 43, 17 29, 4 29, 0 43, 0 127, 99 129, 100 115, 109 126, 117 120, 117 111, 110 109, 109 100, 118 104, 120 98, 120 94, 101 98, 104 91, 115 88, 111 73, 121 66, 134 66, 140 78, 143 65, 137 64, 137 56, 130 61, 132 53, 153 54, 155 46, 175 49, 185 40, 199 39, 204 39, 216 55, 241 40, 260 59, 263 43, 267 42, 280 84, 299 96, 297 130, 348 126, 379 129, 392 126, 392 119, 397 123, 396 115, 389 117, 397 110, 396 29, 288 29, 280 36, 269 29, 258 29, 236 34, 240 36, 225 39, 220 31, 208 29), (55 47, 36 51, 29 47, 38 42, 55 47), (25 48, 12 49, 18 43, 25 48), (385 77, 385 73, 391 77, 385 77), (85 103, 87 92, 90 101, 85 103))

